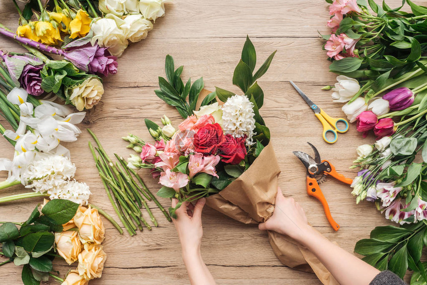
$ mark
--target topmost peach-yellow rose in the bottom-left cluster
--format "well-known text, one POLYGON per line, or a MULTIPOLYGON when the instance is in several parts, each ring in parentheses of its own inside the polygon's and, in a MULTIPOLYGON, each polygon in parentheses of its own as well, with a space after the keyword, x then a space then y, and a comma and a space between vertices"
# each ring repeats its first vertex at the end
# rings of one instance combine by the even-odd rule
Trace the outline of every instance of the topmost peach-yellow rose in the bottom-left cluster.
POLYGON ((100 244, 104 240, 105 228, 98 210, 92 209, 90 206, 87 209, 80 207, 73 220, 78 227, 82 243, 100 244))

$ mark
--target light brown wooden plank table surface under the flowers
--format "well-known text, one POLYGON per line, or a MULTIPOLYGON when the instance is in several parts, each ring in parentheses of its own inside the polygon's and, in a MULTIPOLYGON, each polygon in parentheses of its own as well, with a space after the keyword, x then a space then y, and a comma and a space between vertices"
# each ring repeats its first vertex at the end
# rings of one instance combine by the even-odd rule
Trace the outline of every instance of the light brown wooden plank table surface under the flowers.
MULTIPOLYGON (((397 6, 401 1, 387 2, 397 6)), ((16 28, 17 14, 12 1, 0 0, 0 3, 0 22, 16 28)), ((321 204, 306 194, 305 168, 292 154, 292 150, 311 153, 306 142, 313 143, 322 158, 353 178, 356 173, 349 166, 356 157, 356 147, 373 142, 373 138, 363 140, 352 125, 349 132, 339 135, 337 143, 325 143, 321 124, 288 82, 293 80, 331 116, 344 116, 341 103, 331 100, 332 91, 320 89, 336 81, 336 75, 328 71, 329 62, 322 51, 324 42, 318 34, 318 31, 329 32, 325 26, 328 18, 327 3, 323 0, 176 0, 167 4, 165 17, 156 20, 147 39, 132 44, 118 60, 118 73, 104 80, 102 101, 87 112, 80 124, 82 133, 78 141, 64 143, 77 166, 76 179, 90 186, 90 201, 117 217, 94 166, 85 128, 95 132, 110 155, 116 152, 127 156, 131 151, 125 148, 127 143, 121 137, 133 133, 147 141, 151 139, 144 118, 160 123, 160 117, 166 114, 177 126, 180 115, 153 92, 158 87, 157 77, 165 75, 167 54, 174 57, 176 67, 184 66, 184 81, 190 76, 193 81, 203 76, 205 87, 210 90, 219 86, 238 93, 232 85, 232 75, 248 34, 257 50, 257 66, 277 50, 270 70, 259 80, 259 85, 265 94, 261 115, 271 130, 282 169, 279 185, 285 195, 294 197, 302 205, 317 230, 350 252, 356 241, 368 238, 375 226, 391 224, 371 203, 356 205, 349 186, 329 179, 321 188, 332 216, 341 225, 335 232, 321 204)), ((4 37, 0 37, 0 48, 20 50, 16 43, 4 37)), ((0 118, 0 123, 6 122, 0 118)), ((13 148, 3 139, 0 154, 8 158, 13 155, 13 148)), ((149 173, 141 171, 140 174, 151 191, 156 192, 159 185, 149 173)), ((1 181, 6 177, 5 173, 0 174, 1 181)), ((2 191, 1 196, 24 191, 24 187, 15 186, 2 191)), ((160 201, 169 207, 168 199, 160 201)), ((41 202, 42 199, 34 198, 0 205, 0 220, 23 221, 41 202)), ((133 237, 127 232, 120 235, 104 220, 103 245, 108 258, 102 278, 90 284, 189 284, 175 228, 153 208, 159 227, 138 232, 133 237)), ((282 265, 271 250, 267 234, 256 226, 241 224, 209 208, 204 210, 203 226, 202 254, 217 284, 320 284, 314 274, 282 265)), ((54 269, 64 274, 71 267, 55 261, 54 269)), ((2 284, 21 284, 20 268, 13 264, 2 266, 0 279, 2 284)))

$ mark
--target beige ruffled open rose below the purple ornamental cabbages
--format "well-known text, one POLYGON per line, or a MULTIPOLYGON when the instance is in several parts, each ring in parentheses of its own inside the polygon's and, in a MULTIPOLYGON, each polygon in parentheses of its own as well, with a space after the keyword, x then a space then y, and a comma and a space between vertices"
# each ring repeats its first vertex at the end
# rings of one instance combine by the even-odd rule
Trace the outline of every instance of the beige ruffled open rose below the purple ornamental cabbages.
POLYGON ((71 88, 70 101, 79 111, 92 109, 104 94, 104 87, 96 77, 89 77, 80 85, 71 88))

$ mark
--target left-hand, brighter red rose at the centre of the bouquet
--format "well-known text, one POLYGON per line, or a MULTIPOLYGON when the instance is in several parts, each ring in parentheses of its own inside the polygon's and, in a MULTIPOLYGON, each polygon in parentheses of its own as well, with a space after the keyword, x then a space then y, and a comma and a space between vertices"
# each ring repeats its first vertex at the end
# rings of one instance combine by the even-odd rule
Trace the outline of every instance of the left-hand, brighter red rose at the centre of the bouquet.
POLYGON ((194 135, 194 150, 200 153, 216 153, 218 146, 225 140, 218 123, 207 124, 194 135))

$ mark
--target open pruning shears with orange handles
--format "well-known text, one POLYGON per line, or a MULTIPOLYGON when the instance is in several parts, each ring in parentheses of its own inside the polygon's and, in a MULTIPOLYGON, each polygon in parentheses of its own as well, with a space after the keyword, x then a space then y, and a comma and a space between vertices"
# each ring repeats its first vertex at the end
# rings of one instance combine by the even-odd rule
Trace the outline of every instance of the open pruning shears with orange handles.
POLYGON ((344 175, 339 174, 334 165, 328 160, 321 160, 319 151, 314 147, 313 144, 308 143, 314 151, 314 158, 302 151, 293 151, 293 154, 301 160, 304 166, 307 168, 307 194, 315 197, 322 203, 323 210, 325 211, 326 218, 331 224, 332 228, 337 231, 340 229, 340 225, 332 218, 331 211, 329 210, 328 202, 320 189, 319 184, 326 180, 328 175, 331 175, 335 179, 351 185, 353 179, 346 178, 344 175), (318 178, 320 176, 320 178, 318 178))

